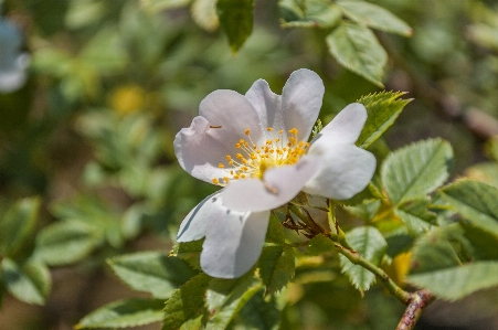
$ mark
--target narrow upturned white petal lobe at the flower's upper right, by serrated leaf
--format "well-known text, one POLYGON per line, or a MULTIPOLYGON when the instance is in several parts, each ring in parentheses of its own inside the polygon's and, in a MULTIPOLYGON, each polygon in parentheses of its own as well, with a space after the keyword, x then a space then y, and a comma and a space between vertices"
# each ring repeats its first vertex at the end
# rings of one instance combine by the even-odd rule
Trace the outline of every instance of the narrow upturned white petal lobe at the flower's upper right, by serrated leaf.
MULTIPOLYGON (((354 143, 367 121, 367 109, 362 104, 352 103, 343 108, 314 139, 312 145, 321 139, 333 143, 354 143)), ((311 149, 310 148, 310 149, 311 149)))

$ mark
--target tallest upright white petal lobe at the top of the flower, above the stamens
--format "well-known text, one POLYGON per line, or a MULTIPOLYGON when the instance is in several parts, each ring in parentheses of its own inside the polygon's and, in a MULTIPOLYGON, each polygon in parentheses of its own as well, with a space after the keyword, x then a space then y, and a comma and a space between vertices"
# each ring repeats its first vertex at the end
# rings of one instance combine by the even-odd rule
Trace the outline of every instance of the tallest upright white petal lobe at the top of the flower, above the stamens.
POLYGON ((297 128, 299 140, 308 140, 324 98, 324 82, 312 71, 301 68, 290 74, 282 93, 285 127, 297 128))

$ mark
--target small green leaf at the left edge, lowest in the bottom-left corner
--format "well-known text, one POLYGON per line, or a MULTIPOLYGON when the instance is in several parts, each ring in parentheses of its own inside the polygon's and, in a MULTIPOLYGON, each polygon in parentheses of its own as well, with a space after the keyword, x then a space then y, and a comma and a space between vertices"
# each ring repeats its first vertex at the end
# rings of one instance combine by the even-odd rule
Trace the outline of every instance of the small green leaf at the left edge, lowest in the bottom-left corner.
POLYGON ((1 277, 7 290, 19 300, 28 304, 44 305, 50 294, 51 278, 49 269, 40 263, 18 264, 4 258, 1 264, 1 277))

